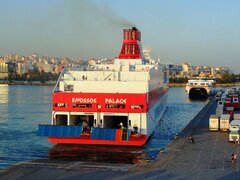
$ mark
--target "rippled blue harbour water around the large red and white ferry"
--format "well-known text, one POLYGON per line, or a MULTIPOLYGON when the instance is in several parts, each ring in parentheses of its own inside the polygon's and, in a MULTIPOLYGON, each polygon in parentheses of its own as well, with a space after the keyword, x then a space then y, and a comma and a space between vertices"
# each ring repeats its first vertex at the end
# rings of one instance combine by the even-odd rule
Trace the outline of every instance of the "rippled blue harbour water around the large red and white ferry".
POLYGON ((190 101, 184 88, 170 88, 166 111, 143 147, 53 145, 46 137, 36 136, 38 124, 50 123, 52 90, 52 86, 0 85, 0 169, 35 159, 131 164, 154 161, 208 102, 190 101))

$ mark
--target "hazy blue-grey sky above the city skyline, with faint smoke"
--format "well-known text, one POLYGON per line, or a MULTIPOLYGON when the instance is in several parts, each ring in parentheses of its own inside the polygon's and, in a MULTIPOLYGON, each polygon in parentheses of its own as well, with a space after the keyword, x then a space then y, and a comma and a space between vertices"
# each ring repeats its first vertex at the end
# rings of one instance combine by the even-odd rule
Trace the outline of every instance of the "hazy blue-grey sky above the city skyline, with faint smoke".
POLYGON ((114 58, 122 29, 164 62, 240 73, 238 0, 0 0, 0 56, 114 58))

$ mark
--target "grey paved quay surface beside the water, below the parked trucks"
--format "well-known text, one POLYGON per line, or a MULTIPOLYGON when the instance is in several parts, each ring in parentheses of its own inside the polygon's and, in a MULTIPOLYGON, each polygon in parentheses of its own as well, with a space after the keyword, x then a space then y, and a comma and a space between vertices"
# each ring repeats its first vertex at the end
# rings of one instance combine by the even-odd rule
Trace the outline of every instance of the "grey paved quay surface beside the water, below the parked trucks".
POLYGON ((209 132, 215 114, 211 100, 154 162, 141 165, 35 160, 0 172, 0 179, 240 179, 238 144, 228 142, 227 132, 209 132), (195 143, 189 143, 192 135, 195 143))

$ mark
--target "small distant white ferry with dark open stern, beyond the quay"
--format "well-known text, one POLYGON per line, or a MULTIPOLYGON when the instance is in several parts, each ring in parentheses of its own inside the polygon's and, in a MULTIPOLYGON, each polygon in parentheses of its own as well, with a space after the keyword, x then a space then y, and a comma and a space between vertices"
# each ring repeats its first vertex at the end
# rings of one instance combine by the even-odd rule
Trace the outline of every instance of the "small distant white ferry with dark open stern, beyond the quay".
POLYGON ((189 79, 185 91, 189 98, 207 98, 216 94, 216 82, 213 79, 189 79))

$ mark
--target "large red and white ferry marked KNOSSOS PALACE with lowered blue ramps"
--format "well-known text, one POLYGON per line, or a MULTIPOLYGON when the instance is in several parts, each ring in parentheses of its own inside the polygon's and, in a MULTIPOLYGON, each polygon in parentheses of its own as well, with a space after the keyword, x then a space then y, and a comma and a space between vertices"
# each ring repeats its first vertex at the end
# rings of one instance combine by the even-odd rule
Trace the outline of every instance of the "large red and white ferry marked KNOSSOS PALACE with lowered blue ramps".
POLYGON ((143 146, 166 108, 168 76, 167 67, 144 58, 141 32, 124 29, 112 63, 62 70, 51 124, 37 134, 56 144, 143 146))

